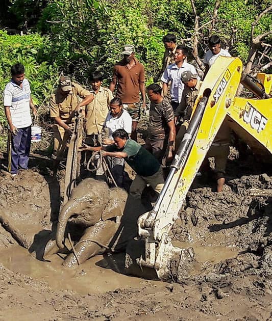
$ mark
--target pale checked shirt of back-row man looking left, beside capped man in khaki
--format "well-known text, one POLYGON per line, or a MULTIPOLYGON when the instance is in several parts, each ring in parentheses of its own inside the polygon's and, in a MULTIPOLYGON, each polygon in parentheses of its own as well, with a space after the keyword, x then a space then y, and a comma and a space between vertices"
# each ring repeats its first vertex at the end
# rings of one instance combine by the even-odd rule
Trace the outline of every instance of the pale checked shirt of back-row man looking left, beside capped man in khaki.
POLYGON ((182 92, 184 89, 184 84, 181 81, 181 74, 187 70, 190 70, 193 74, 197 73, 194 66, 185 61, 180 68, 176 64, 171 64, 164 70, 161 81, 166 84, 171 82, 171 101, 181 102, 182 92))

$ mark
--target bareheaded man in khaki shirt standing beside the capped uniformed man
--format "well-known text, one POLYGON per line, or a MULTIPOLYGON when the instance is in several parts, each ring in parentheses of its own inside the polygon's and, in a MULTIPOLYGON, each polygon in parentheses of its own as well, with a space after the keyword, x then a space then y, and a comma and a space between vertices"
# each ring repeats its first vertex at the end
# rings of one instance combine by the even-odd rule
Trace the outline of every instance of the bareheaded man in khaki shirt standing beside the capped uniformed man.
POLYGON ((86 106, 86 144, 100 146, 102 140, 102 129, 109 112, 110 101, 113 99, 112 92, 102 87, 103 77, 100 72, 90 75, 92 86, 91 94, 94 99, 86 106))

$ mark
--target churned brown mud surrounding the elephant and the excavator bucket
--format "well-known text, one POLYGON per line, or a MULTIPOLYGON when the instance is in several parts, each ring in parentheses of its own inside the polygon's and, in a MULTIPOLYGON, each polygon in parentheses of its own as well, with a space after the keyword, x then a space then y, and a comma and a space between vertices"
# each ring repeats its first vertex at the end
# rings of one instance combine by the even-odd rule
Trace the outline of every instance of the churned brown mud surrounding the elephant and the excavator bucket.
POLYGON ((41 261, 19 246, 16 235, 29 248, 57 219, 62 180, 40 173, 0 173, 2 217, 16 218, 0 226, 1 320, 272 318, 271 177, 229 178, 221 194, 194 182, 172 237, 194 248, 196 263, 170 284, 123 275, 122 253, 68 271, 62 254, 41 261))

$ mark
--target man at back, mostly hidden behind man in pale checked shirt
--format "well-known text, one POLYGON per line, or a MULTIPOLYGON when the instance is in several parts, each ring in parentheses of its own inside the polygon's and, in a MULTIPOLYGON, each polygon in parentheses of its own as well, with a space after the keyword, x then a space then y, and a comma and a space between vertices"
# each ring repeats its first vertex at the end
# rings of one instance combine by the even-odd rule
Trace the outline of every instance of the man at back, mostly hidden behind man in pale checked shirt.
POLYGON ((157 83, 160 79, 161 75, 163 74, 164 70, 170 65, 174 64, 174 56, 177 49, 177 38, 175 35, 168 34, 162 38, 165 51, 163 56, 162 68, 159 73, 153 78, 154 83, 157 83))

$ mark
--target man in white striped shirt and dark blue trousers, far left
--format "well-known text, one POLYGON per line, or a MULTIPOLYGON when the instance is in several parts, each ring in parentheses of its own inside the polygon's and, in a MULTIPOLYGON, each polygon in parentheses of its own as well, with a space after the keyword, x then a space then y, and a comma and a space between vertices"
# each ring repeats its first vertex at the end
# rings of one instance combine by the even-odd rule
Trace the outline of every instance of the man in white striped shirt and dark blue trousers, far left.
POLYGON ((31 98, 29 82, 24 78, 24 66, 11 67, 11 81, 6 85, 3 100, 5 114, 11 133, 11 169, 13 176, 18 169, 28 169, 31 144, 30 108, 35 116, 37 111, 31 98))

